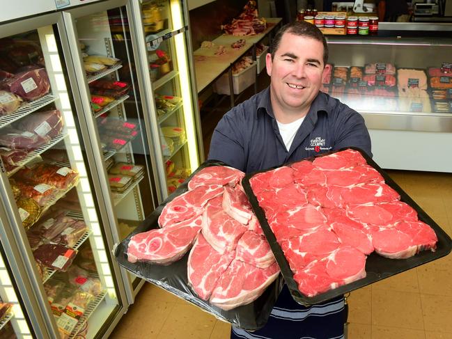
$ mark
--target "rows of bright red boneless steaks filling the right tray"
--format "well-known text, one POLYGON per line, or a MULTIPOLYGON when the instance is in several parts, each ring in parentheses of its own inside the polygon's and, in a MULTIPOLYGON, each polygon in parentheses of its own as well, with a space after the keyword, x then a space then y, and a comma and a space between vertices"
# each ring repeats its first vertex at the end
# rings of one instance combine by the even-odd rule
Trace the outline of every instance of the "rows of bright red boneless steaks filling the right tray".
POLYGON ((366 276, 366 255, 409 258, 437 236, 355 150, 250 180, 299 290, 308 297, 366 276))

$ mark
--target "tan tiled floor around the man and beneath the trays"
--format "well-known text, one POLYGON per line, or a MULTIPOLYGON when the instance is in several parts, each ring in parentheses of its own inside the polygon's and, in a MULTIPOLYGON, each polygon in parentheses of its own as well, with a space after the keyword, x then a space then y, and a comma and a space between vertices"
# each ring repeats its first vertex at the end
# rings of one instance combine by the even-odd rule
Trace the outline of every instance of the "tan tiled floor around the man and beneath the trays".
MULTIPOLYGON (((389 171, 452 236, 452 174, 389 171)), ((451 339, 452 255, 350 294, 349 339, 451 339)), ((114 339, 226 339, 230 326, 146 284, 114 339)), ((281 337, 283 338, 283 337, 281 337)))

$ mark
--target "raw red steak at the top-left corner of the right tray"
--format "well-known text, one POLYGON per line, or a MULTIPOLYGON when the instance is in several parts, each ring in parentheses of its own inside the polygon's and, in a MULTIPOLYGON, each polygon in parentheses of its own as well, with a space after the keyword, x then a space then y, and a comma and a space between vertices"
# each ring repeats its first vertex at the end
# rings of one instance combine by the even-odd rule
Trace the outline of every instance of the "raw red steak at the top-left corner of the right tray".
POLYGON ((254 192, 265 189, 281 189, 293 184, 293 169, 288 166, 281 166, 272 171, 258 173, 249 182, 254 192))

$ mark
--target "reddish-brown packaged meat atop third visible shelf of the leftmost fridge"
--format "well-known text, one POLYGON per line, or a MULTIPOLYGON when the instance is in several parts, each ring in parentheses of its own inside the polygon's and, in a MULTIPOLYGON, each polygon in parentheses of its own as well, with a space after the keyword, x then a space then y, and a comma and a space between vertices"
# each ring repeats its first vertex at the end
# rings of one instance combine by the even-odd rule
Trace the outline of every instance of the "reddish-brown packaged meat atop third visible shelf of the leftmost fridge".
POLYGON ((31 167, 21 168, 15 178, 34 183, 44 183, 66 190, 77 184, 79 173, 72 168, 49 164, 45 161, 34 164, 31 167))

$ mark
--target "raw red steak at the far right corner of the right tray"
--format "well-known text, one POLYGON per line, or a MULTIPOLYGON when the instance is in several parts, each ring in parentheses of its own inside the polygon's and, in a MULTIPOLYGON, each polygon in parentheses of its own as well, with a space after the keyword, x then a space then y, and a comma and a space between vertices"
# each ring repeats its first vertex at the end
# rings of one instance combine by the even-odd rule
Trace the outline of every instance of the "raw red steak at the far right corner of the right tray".
POLYGON ((419 251, 435 251, 435 231, 421 221, 400 221, 393 228, 371 232, 375 252, 386 258, 410 258, 419 251))

